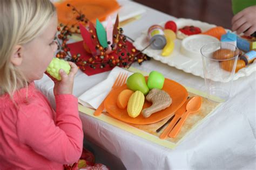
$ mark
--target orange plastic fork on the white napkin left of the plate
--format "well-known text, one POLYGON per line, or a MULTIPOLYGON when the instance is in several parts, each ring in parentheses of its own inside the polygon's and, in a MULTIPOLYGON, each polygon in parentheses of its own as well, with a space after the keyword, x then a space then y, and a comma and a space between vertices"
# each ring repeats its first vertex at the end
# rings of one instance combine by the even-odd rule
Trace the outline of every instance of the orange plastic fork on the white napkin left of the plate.
MULTIPOLYGON (((127 76, 128 76, 128 73, 119 73, 118 76, 117 76, 116 81, 114 81, 114 84, 113 84, 112 89, 110 90, 110 92, 111 92, 113 89, 122 86, 122 85, 125 83, 125 81, 126 81, 126 79, 127 79, 127 76)), ((109 95, 109 94, 107 94, 107 96, 108 96, 108 95, 109 95)), ((107 97, 107 96, 106 96, 106 97, 107 97)), ((106 98, 106 97, 105 97, 105 98, 106 98)), ((102 103, 100 103, 100 105, 99 105, 99 107, 97 108, 97 110, 94 112, 94 115, 95 115, 95 116, 99 116, 100 114, 102 114, 102 111, 104 110, 104 101, 105 101, 105 98, 104 98, 104 100, 102 101, 102 103)))

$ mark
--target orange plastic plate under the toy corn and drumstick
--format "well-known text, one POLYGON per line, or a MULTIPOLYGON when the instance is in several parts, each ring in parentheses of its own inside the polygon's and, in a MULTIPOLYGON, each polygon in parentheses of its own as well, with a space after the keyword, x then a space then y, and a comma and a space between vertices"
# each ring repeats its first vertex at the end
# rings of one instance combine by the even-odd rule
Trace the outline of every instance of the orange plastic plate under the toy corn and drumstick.
MULTIPOLYGON (((106 111, 112 117, 120 121, 132 124, 151 124, 163 120, 164 118, 172 115, 176 110, 178 110, 181 105, 183 105, 183 103, 186 101, 188 95, 187 90, 181 84, 165 78, 163 90, 166 91, 172 98, 172 104, 170 105, 170 107, 158 111, 148 118, 144 118, 142 114, 140 114, 136 118, 132 118, 128 115, 127 108, 120 109, 117 107, 117 96, 124 89, 127 89, 126 84, 124 84, 122 87, 112 90, 105 99, 104 105, 106 111)), ((143 108, 148 108, 151 104, 152 103, 145 100, 143 108)))

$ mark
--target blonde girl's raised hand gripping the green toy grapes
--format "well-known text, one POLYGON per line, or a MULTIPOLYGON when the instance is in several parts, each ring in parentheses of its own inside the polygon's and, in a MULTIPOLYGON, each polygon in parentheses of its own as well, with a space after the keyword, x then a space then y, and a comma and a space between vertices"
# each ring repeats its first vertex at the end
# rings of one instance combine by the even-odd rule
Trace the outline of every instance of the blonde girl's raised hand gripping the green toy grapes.
POLYGON ((73 83, 75 75, 78 71, 78 67, 75 63, 69 61, 69 65, 71 66, 69 74, 66 74, 64 70, 60 69, 59 74, 62 77, 60 81, 54 81, 55 85, 53 88, 53 94, 61 95, 61 94, 72 94, 73 92, 73 83))

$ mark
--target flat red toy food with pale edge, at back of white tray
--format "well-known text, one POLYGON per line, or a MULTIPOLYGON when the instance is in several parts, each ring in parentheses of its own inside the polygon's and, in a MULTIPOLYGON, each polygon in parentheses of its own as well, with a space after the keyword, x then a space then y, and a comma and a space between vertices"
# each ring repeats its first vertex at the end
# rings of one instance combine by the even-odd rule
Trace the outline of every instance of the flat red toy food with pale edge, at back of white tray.
POLYGON ((177 38, 184 39, 188 36, 194 34, 200 34, 201 29, 197 26, 184 26, 183 28, 179 29, 177 32, 177 38))

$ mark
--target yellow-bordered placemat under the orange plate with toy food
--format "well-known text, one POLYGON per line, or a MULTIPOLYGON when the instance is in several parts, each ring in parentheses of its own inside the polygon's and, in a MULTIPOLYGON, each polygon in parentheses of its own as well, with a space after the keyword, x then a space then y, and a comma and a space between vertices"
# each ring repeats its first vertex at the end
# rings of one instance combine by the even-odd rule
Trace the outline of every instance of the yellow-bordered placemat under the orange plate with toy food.
MULTIPOLYGON (((130 67, 129 70, 131 72, 142 72, 133 67, 130 67)), ((142 72, 142 74, 147 75, 147 73, 145 72, 142 72)), ((185 88, 188 91, 188 96, 190 97, 193 97, 196 95, 201 96, 203 98, 203 103, 198 112, 188 115, 188 118, 186 119, 184 125, 182 126, 176 138, 167 137, 165 140, 160 139, 159 136, 161 132, 164 131, 165 128, 161 129, 160 132, 156 132, 156 130, 160 128, 160 126, 163 125, 165 122, 167 122, 171 116, 163 119, 160 122, 149 124, 149 125, 134 125, 134 124, 125 123, 115 118, 112 118, 107 113, 104 113, 100 116, 94 116, 93 113, 95 112, 95 110, 86 108, 80 104, 79 104, 79 111, 83 112, 84 114, 95 117, 97 119, 100 119, 101 121, 117 126, 120 129, 136 134, 137 136, 142 137, 146 140, 152 141, 153 143, 157 143, 159 145, 173 149, 180 143, 180 141, 185 139, 188 133, 196 129, 196 127, 199 124, 201 124, 207 116, 211 115, 211 113, 219 107, 219 103, 208 101, 207 98, 205 98, 206 94, 203 93, 202 91, 199 91, 193 88, 187 88, 187 87, 185 88)))

